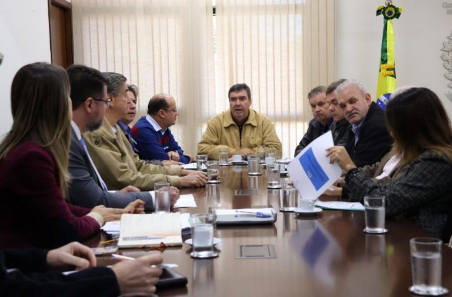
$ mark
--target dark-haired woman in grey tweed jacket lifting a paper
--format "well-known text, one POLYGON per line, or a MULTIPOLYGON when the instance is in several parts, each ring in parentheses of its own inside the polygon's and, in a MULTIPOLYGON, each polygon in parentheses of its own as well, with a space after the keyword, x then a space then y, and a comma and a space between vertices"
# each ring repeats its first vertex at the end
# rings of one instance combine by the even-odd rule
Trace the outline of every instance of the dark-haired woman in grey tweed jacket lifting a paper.
POLYGON ((405 218, 437 238, 447 239, 452 212, 452 130, 438 96, 427 88, 396 90, 385 109, 386 125, 394 138, 393 152, 406 172, 377 183, 358 169, 344 147, 327 149, 330 162, 346 174, 351 199, 386 197, 386 216, 405 218))

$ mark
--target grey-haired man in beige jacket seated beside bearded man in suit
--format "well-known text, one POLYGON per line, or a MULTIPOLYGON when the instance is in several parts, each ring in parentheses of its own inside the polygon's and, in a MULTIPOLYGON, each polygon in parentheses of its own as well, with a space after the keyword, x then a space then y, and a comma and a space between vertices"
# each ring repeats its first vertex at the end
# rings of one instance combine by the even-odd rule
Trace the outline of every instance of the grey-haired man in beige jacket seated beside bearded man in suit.
POLYGON ((119 73, 104 73, 108 77, 107 96, 111 100, 105 111, 100 129, 83 135, 89 155, 100 176, 110 190, 128 185, 142 191, 154 190, 154 184, 169 182, 171 186, 201 187, 206 184, 205 174, 197 171, 148 164, 131 151, 128 139, 117 121, 127 113, 128 86, 126 77, 119 73))

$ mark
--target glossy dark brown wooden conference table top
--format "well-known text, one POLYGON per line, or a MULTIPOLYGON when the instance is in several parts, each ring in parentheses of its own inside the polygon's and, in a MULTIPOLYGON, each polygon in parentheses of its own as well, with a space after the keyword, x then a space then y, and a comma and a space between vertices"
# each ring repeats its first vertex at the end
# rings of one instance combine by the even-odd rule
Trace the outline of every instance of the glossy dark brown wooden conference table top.
MULTIPOLYGON (((207 212, 209 206, 279 208, 280 190, 267 190, 267 177, 250 177, 246 167, 220 169, 222 183, 183 189, 193 194, 197 208, 181 212, 207 212), (219 188, 219 189, 218 189, 219 188), (259 195, 235 196, 236 189, 255 189, 259 195), (217 195, 219 193, 219 195, 217 195)), ((322 198, 321 198, 322 199, 322 198)), ((163 251, 164 262, 176 263, 188 278, 183 288, 157 291, 159 296, 411 296, 409 239, 428 236, 408 221, 387 220, 384 235, 363 233, 363 211, 323 210, 315 216, 278 212, 274 225, 217 227, 214 236, 219 257, 192 259, 190 246, 163 251), (276 258, 236 259, 238 245, 273 244, 276 258)), ((97 246, 105 234, 85 244, 97 246)), ((185 240, 185 238, 184 238, 185 240)), ((142 249, 120 253, 138 257, 142 249)), ((452 250, 444 246, 442 285, 452 289, 452 250)), ((116 262, 98 258, 98 264, 116 262)))

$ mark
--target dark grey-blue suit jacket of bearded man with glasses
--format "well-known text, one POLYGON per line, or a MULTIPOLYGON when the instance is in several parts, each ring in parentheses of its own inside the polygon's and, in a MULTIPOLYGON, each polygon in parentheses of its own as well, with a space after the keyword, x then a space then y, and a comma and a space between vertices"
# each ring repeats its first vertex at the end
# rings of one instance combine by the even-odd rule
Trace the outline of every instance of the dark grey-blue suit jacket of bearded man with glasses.
POLYGON ((149 192, 110 193, 103 191, 94 168, 89 162, 83 146, 72 129, 71 148, 69 152, 69 173, 72 176, 69 184, 69 201, 75 205, 94 207, 124 208, 132 201, 141 199, 146 210, 153 210, 152 196, 149 192))

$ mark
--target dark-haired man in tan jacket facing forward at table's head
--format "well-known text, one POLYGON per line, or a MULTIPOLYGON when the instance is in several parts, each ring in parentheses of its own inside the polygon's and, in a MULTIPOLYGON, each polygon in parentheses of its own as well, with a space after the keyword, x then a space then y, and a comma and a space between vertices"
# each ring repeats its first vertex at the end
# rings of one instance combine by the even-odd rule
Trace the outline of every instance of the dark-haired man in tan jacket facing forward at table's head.
POLYGON ((265 115, 250 108, 251 90, 246 84, 236 84, 229 89, 230 109, 207 122, 207 128, 198 143, 198 154, 218 159, 219 148, 229 148, 229 156, 246 157, 256 154, 257 147, 276 148, 276 156, 282 156, 281 141, 273 123, 265 115))

